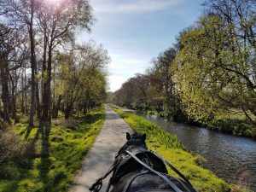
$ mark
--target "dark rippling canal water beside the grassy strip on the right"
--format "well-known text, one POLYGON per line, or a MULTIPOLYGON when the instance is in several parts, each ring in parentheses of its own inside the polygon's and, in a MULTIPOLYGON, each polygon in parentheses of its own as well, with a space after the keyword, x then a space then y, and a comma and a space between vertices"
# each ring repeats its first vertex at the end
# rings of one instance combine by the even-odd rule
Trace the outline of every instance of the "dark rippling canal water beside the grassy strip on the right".
POLYGON ((133 112, 172 134, 189 150, 207 160, 203 166, 230 183, 240 183, 256 192, 256 142, 205 128, 168 122, 154 115, 133 112))

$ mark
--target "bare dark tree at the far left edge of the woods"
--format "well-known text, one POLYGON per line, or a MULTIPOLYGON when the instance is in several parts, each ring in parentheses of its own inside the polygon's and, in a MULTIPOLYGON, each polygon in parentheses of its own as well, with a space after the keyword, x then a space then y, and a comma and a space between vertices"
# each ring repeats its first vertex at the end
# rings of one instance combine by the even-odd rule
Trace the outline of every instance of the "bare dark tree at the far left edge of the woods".
POLYGON ((27 60, 26 38, 18 29, 0 25, 1 84, 3 99, 3 120, 10 122, 9 114, 17 121, 16 91, 18 70, 27 60))

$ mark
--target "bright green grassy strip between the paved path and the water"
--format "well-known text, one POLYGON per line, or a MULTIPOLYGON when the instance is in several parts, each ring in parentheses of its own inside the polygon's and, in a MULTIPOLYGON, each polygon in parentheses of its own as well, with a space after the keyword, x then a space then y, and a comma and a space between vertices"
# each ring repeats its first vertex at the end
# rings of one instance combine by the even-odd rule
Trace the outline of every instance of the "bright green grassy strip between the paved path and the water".
MULTIPOLYGON (((125 121, 131 126, 133 131, 147 134, 148 148, 156 148, 166 160, 170 161, 173 166, 189 178, 195 188, 200 192, 245 192, 247 189, 241 189, 232 186, 224 180, 216 177, 212 172, 200 166, 204 159, 193 152, 188 152, 186 148, 178 141, 177 137, 161 130, 157 125, 148 122, 146 119, 132 113, 125 113, 118 108, 113 108, 119 113, 125 121)), ((170 174, 176 175, 170 169, 170 174)), ((176 175, 177 176, 177 175, 176 175)))

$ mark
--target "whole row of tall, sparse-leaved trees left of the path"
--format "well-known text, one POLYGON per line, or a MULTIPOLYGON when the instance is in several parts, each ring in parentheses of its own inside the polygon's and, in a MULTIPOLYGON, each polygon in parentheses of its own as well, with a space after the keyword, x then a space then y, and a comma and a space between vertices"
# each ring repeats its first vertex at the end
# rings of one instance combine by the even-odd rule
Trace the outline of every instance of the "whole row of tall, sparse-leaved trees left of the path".
POLYGON ((106 96, 106 49, 77 44, 76 34, 94 22, 87 0, 0 1, 0 130, 28 115, 32 128, 86 113, 106 96))

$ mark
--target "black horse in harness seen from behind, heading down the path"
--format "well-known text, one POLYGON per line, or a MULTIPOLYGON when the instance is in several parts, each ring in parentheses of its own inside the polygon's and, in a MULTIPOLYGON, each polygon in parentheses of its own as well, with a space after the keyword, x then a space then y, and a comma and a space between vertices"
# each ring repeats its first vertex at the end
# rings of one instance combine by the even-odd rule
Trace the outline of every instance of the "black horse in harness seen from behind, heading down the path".
POLYGON ((172 165, 148 151, 146 134, 126 133, 126 138, 127 142, 116 154, 113 166, 92 185, 91 191, 99 191, 102 179, 113 172, 107 191, 112 187, 111 192, 196 192, 189 180, 172 165), (183 179, 169 176, 165 163, 183 179))

